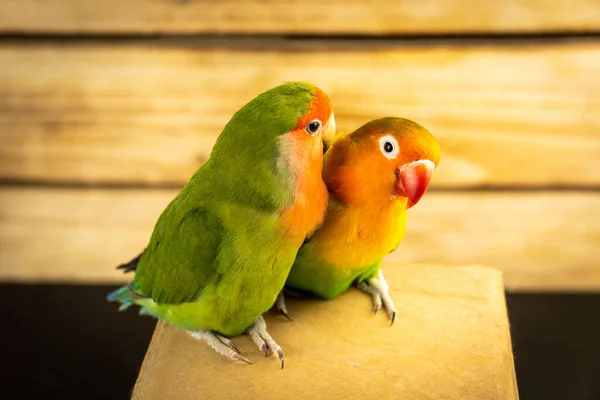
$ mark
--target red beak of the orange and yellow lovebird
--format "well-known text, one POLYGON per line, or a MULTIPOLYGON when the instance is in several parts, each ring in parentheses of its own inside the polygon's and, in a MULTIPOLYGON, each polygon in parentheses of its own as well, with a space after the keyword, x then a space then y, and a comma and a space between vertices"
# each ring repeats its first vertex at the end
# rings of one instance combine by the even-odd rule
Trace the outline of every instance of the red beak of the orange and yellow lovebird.
POLYGON ((396 170, 396 185, 394 194, 408 198, 406 209, 411 208, 421 200, 425 194, 431 173, 435 164, 429 160, 418 160, 404 164, 396 170))

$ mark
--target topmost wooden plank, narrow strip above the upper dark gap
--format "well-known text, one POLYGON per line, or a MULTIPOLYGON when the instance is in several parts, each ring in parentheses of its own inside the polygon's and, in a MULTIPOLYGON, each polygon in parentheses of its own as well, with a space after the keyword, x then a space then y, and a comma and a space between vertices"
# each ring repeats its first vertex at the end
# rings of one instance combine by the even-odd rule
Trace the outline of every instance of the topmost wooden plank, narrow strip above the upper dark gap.
POLYGON ((3 0, 0 31, 111 34, 587 32, 594 0, 3 0))

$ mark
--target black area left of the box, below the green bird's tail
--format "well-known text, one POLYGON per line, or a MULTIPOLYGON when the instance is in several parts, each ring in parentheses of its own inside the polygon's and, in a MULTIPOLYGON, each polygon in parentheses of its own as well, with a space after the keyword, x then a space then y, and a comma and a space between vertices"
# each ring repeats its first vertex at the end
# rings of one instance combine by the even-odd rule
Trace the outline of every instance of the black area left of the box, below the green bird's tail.
POLYGON ((156 321, 118 312, 115 287, 0 285, 0 397, 129 398, 156 321))

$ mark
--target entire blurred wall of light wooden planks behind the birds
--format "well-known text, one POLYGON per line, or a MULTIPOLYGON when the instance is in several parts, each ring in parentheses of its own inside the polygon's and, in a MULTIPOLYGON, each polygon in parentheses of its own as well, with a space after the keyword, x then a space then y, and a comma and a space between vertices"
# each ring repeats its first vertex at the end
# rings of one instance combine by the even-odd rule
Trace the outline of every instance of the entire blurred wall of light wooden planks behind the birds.
POLYGON ((120 282, 240 106, 287 80, 340 130, 440 141, 399 262, 600 289, 600 2, 3 0, 0 280, 120 282))

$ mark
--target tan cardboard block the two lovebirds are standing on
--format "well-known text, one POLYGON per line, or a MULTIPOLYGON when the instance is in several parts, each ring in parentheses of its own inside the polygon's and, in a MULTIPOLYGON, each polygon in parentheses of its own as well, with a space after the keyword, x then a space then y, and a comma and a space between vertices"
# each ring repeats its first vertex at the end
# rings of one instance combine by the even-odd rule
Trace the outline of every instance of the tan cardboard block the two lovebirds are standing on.
MULTIPOLYGON (((384 265, 398 315, 373 315, 352 288, 334 300, 287 298, 293 321, 265 315, 282 347, 230 361, 204 342, 157 324, 135 399, 517 399, 502 274, 469 266, 384 265)), ((141 318, 141 317, 140 317, 141 318)))

